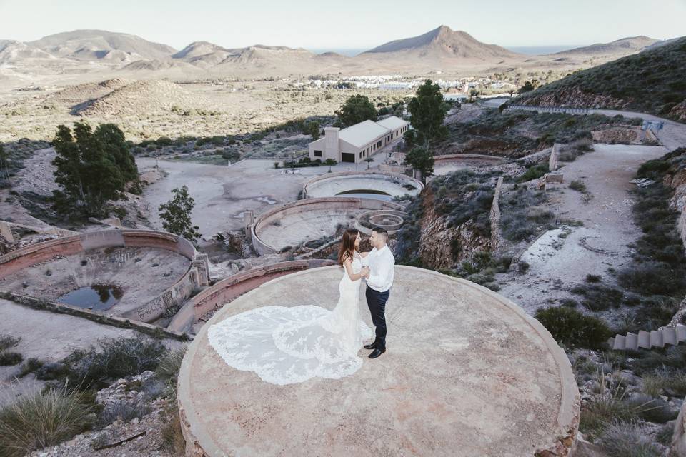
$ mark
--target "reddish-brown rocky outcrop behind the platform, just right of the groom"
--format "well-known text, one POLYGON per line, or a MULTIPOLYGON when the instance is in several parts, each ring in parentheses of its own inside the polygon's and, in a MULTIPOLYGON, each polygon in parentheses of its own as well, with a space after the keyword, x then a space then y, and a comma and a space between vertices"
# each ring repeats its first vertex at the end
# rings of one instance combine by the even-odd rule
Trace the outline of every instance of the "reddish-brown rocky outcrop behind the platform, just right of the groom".
POLYGON ((474 223, 467 221, 449 227, 448 220, 435 211, 432 189, 424 188, 424 219, 419 238, 419 257, 429 268, 450 268, 475 252, 487 251, 490 240, 474 233, 474 223))

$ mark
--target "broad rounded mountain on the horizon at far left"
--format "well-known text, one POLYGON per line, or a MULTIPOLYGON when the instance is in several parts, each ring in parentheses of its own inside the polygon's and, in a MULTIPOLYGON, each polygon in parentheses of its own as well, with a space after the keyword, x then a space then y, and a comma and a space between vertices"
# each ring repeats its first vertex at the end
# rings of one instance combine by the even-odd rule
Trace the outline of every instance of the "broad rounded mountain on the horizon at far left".
POLYGON ((26 43, 56 57, 86 61, 131 62, 168 59, 177 50, 140 36, 104 30, 75 30, 45 36, 26 43))

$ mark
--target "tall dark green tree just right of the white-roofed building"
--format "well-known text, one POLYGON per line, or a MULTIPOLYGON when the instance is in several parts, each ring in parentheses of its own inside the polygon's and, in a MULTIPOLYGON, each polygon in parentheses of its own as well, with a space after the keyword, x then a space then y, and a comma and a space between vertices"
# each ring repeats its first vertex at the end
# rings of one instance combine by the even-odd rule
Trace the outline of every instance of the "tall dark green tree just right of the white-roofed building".
POLYGON ((443 125, 447 104, 443 100, 443 93, 438 84, 431 79, 417 89, 417 95, 409 101, 407 111, 412 115, 412 127, 417 131, 415 138, 421 142, 424 149, 429 149, 429 142, 440 139, 447 134, 443 125))

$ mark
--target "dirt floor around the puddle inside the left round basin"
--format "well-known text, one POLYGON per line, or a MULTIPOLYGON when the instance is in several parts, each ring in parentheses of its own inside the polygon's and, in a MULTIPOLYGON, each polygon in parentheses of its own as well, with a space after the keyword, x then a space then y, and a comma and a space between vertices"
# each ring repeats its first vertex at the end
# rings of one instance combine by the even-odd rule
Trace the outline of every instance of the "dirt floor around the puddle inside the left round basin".
POLYGON ((116 315, 161 295, 187 271, 189 260, 154 248, 105 248, 25 268, 0 280, 0 288, 22 295, 55 300, 76 288, 94 284, 119 286, 121 301, 104 313, 116 315), (86 265, 82 265, 86 261, 86 265), (26 287, 24 287, 24 284, 26 287))

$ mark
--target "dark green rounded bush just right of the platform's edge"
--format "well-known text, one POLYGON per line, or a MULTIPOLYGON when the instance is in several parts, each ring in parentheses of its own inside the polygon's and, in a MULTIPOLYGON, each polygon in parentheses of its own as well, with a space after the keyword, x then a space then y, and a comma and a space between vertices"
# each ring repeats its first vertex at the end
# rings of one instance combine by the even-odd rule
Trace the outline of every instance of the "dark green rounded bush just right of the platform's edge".
POLYGON ((539 308, 535 318, 550 331, 555 340, 565 346, 600 348, 612 336, 604 321, 567 306, 539 308))

